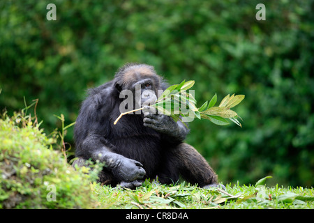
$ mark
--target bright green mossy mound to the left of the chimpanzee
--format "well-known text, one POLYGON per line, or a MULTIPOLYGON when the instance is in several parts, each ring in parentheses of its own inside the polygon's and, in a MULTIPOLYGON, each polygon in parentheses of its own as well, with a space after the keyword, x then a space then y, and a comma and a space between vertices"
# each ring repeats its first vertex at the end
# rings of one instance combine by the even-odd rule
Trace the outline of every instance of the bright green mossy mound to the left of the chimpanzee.
POLYGON ((94 208, 91 175, 75 171, 30 118, 0 119, 0 208, 94 208))

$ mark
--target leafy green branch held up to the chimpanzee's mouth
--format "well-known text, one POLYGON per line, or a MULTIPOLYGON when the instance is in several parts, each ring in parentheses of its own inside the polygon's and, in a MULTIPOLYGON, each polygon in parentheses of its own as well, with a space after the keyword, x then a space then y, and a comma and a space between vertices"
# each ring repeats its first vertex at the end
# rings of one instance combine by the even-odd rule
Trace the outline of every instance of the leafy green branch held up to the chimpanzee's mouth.
MULTIPOLYGON (((165 114, 171 116, 174 121, 182 121, 183 118, 194 118, 195 116, 199 119, 207 119, 216 125, 228 125, 230 124, 227 119, 234 122, 235 124, 242 126, 237 118, 241 118, 236 112, 231 110, 232 107, 238 105, 242 100, 244 100, 244 95, 227 95, 220 102, 218 107, 215 107, 217 102, 217 95, 215 94, 213 98, 208 102, 197 108, 196 100, 188 93, 186 90, 190 89, 195 84, 195 81, 185 80, 181 84, 174 84, 160 95, 156 100, 154 107, 158 110, 159 114, 165 114)), ((121 116, 136 112, 144 109, 135 109, 129 112, 121 113, 120 116, 114 121, 114 125, 117 124, 121 116)), ((184 122, 183 122, 184 123, 184 122)))

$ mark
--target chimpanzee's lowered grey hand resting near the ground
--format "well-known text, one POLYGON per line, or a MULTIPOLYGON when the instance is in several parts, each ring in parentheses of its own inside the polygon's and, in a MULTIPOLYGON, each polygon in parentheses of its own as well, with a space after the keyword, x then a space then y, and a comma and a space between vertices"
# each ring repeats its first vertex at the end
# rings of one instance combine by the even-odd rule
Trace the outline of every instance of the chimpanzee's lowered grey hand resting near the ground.
POLYGON ((140 162, 124 157, 118 161, 117 166, 112 169, 112 173, 125 182, 131 182, 144 177, 146 172, 142 166, 140 162))

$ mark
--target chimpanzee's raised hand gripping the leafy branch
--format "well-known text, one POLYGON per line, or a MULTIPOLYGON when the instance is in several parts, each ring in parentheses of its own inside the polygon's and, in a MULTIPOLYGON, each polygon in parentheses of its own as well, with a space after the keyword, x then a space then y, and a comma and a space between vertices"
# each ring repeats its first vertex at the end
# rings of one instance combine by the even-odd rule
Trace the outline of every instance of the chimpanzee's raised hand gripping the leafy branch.
POLYGON ((176 123, 170 116, 164 114, 156 114, 153 107, 145 106, 143 109, 144 126, 152 128, 160 133, 166 134, 179 141, 184 140, 188 129, 183 123, 176 123))

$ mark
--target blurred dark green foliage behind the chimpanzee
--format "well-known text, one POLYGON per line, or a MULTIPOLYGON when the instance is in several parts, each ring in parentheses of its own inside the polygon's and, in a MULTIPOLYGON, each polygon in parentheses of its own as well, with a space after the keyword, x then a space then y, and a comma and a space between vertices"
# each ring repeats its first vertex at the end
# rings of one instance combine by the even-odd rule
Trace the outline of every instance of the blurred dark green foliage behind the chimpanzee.
POLYGON ((0 109, 38 98, 36 113, 50 132, 59 123, 53 114, 75 121, 88 88, 126 62, 148 63, 170 84, 194 79, 199 106, 214 93, 218 101, 246 95, 236 109, 243 128, 190 123, 187 142, 220 180, 272 175, 311 187, 313 11, 313 0, 0 1, 0 109), (46 19, 48 3, 57 21, 46 19), (257 3, 266 21, 255 19, 257 3))

